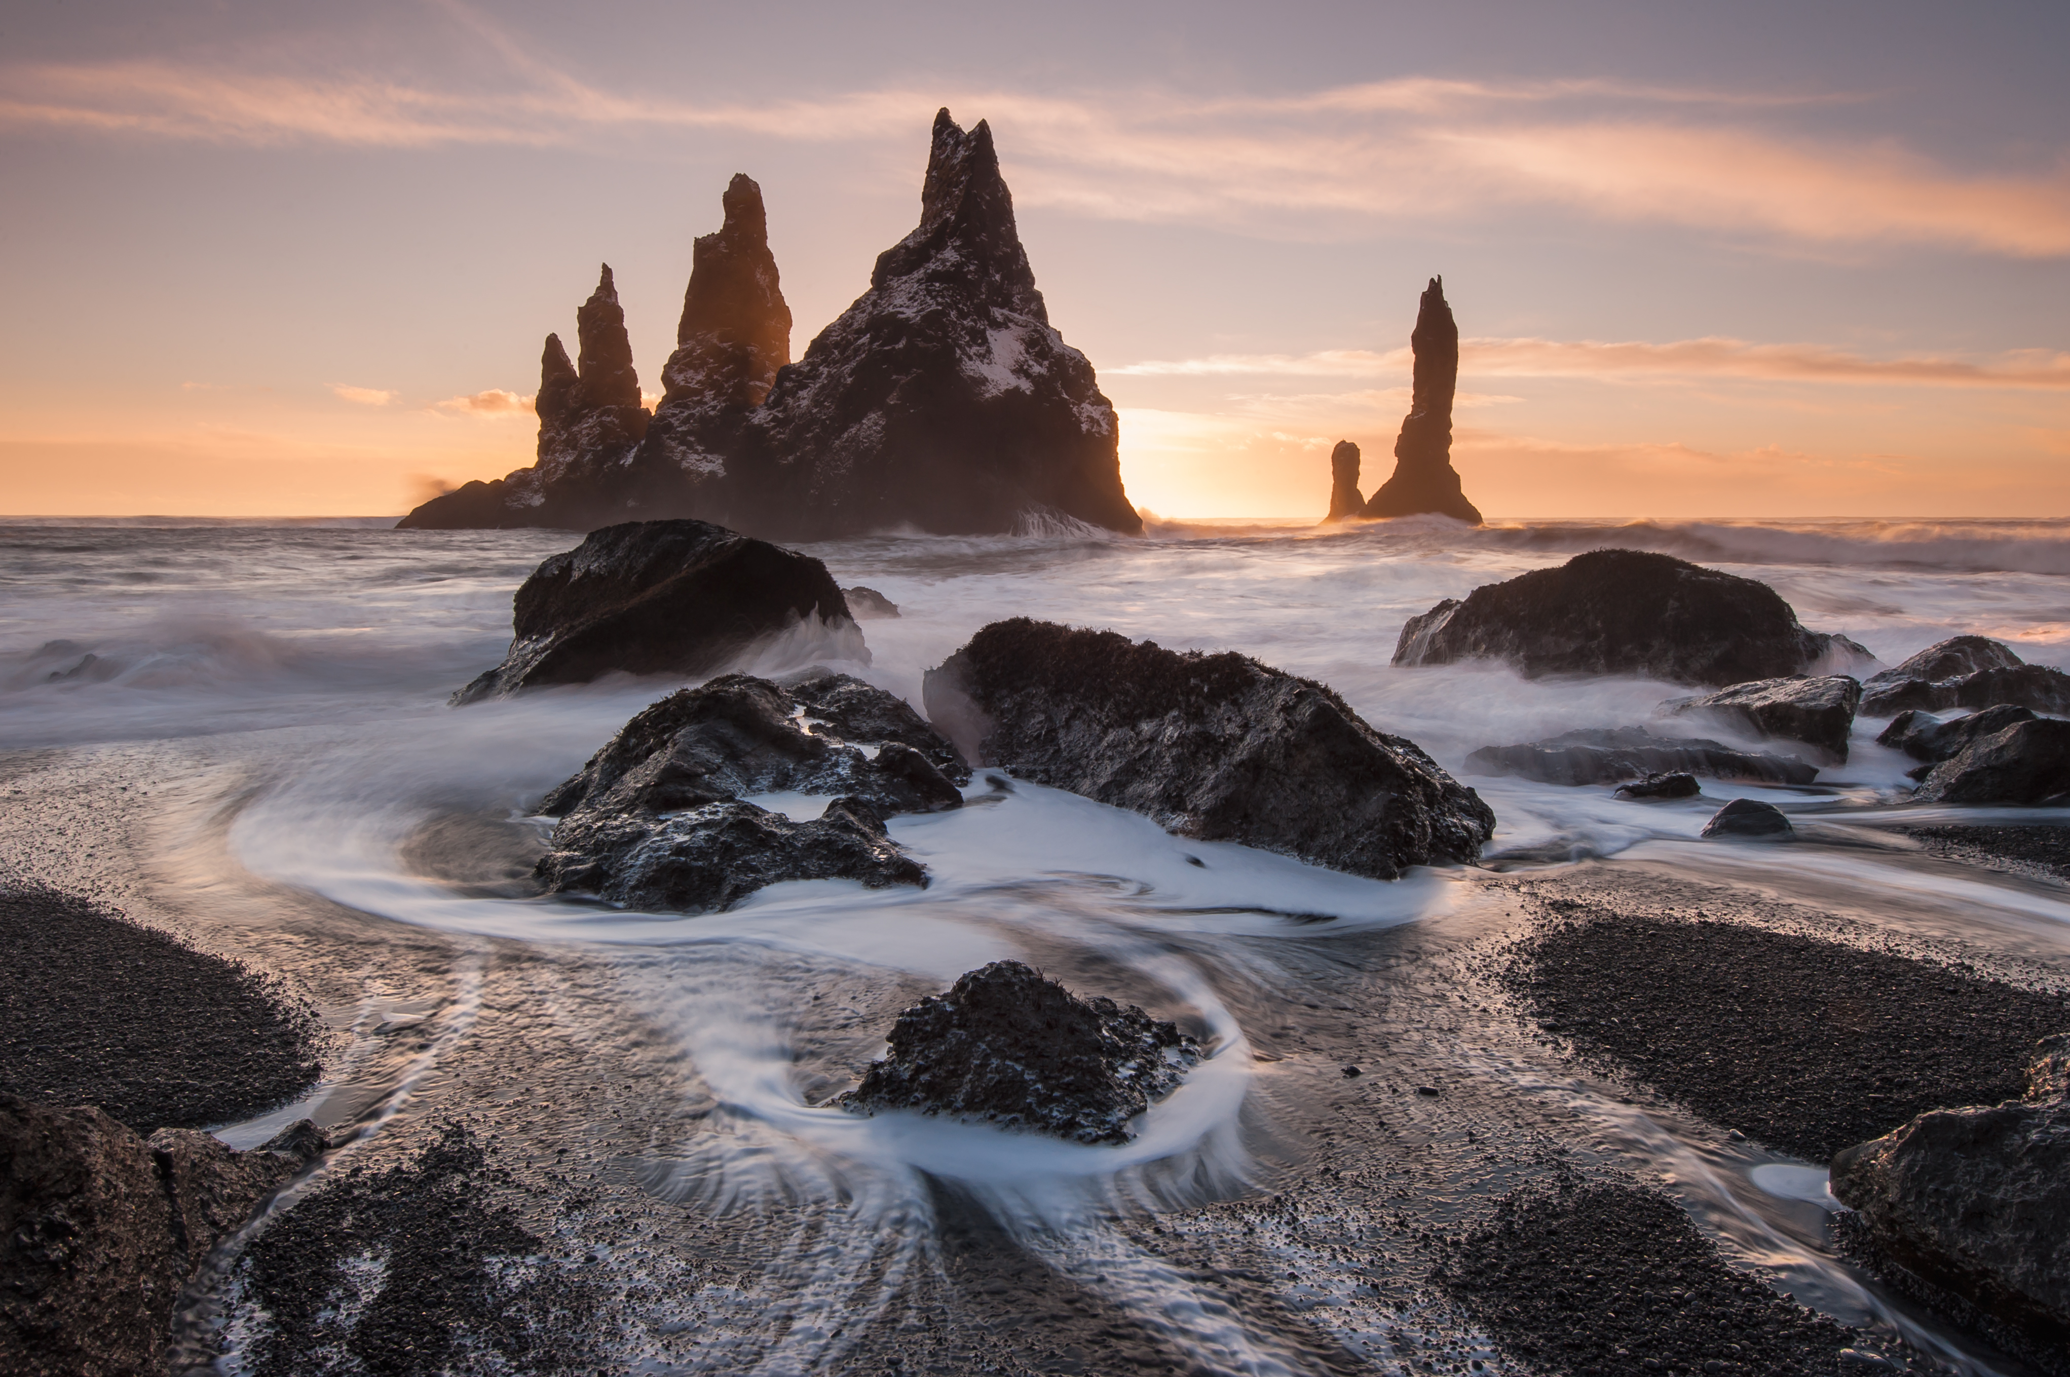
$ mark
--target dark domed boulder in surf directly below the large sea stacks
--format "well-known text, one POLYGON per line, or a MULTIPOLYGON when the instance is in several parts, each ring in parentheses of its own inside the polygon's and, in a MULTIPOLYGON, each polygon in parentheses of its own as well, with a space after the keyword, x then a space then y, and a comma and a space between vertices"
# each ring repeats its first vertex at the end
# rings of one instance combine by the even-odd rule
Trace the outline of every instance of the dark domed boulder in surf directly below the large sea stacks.
POLYGON ((607 526, 518 588, 509 654, 453 702, 613 671, 710 673, 807 619, 867 661, 840 588, 811 555, 708 522, 607 526))

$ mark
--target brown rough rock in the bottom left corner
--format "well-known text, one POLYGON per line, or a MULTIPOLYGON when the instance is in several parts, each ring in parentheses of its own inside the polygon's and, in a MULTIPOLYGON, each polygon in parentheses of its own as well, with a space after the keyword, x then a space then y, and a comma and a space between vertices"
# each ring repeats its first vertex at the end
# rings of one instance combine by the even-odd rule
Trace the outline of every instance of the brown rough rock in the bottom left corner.
POLYGON ((164 1373, 180 1288, 323 1149, 308 1120, 240 1153, 0 1093, 0 1371, 164 1373))

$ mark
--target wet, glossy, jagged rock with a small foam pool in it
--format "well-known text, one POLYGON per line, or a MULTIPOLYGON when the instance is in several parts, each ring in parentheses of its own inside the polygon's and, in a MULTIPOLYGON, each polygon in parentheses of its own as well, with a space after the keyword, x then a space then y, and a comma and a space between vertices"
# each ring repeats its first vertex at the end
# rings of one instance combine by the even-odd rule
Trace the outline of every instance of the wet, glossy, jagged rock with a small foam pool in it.
POLYGON ((861 679, 818 675, 787 692, 724 675, 633 716, 546 795, 540 812, 561 824, 536 878, 551 892, 683 913, 782 880, 925 884, 884 818, 960 808, 967 779, 946 739, 861 679), (793 822, 743 797, 766 793, 836 797, 793 822))

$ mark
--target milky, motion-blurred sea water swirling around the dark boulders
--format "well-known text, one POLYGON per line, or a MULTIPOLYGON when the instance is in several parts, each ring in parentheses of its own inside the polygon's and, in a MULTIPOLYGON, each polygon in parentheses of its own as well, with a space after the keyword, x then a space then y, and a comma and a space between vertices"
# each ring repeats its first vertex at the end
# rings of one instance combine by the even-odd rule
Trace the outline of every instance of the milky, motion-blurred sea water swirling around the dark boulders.
MULTIPOLYGON (((1439 598, 1613 545, 1759 578, 1805 625, 1844 632, 1886 665, 1981 632, 2029 661, 2070 667, 2070 522, 1157 522, 1145 538, 807 547, 838 582, 880 590, 903 617, 863 623, 867 658, 853 654, 853 640, 805 627, 741 669, 826 663, 917 704, 931 665, 1008 615, 1242 650, 1329 683, 1370 723, 1476 785, 1499 818, 1490 870, 1360 880, 1176 839, 1145 818, 981 770, 969 808, 890 824, 929 868, 925 890, 787 884, 700 917, 546 901, 515 880, 542 837, 530 803, 677 683, 615 679, 445 706, 501 658, 515 586, 573 540, 364 524, 0 528, 0 748, 17 791, 39 772, 72 770, 93 810, 128 820, 118 882, 128 899, 164 905, 203 940, 234 930, 221 942, 290 973, 306 967, 348 1052, 292 1114, 315 1112, 373 1141, 400 1114, 437 1112, 441 1095, 462 1104, 468 1091, 441 1083, 441 1058, 460 1064, 468 1046, 503 1037, 505 1064, 522 1064, 522 1037, 497 1031, 484 971, 515 961, 511 953, 604 971, 602 984, 573 982, 555 996, 555 1027, 575 1039, 638 1027, 642 1056, 689 1087, 679 1116, 667 1095, 650 1110, 646 1145, 613 1151, 615 1178, 671 1209, 811 1220, 809 1236, 753 1253, 760 1286, 731 1300, 710 1286, 700 1292, 700 1325, 724 1342, 650 1354, 652 1371, 836 1365, 867 1317, 892 1313, 911 1278, 940 1265, 942 1182, 1196 1365, 1319 1371, 1279 1327, 1207 1298, 1196 1278, 1134 1242, 1126 1220, 1244 1199, 1298 1170, 1300 1151, 1279 1131, 1312 1110, 1312 1095, 1288 1089, 1279 1056, 1261 1052, 1267 1027, 1277 1029, 1288 1006, 1319 1006, 1329 988, 1317 971, 1331 953, 1416 924, 1470 930, 1495 903, 1486 874, 1644 863, 1764 886, 1855 921, 2014 955, 2070 953, 2060 886, 1927 868, 1888 830, 1896 820, 2010 814, 1904 808, 1913 762, 1873 743, 1882 723, 1859 721, 1851 762, 1815 787, 1706 783, 1704 799, 1633 805, 1606 789, 1466 777, 1463 760, 1480 745, 1644 723, 1687 690, 1526 681, 1488 665, 1389 667, 1401 623, 1439 598), (116 793, 120 805, 91 801, 116 793), (159 803, 139 801, 151 795, 159 803), (1737 795, 1797 820, 1805 843, 1788 851, 1786 872, 1774 872, 1772 851, 1695 841, 1737 795), (358 955, 342 957, 348 948, 358 955), (420 950, 443 955, 400 955, 420 950), (845 1085, 842 1068, 882 1046, 890 1010, 1002 957, 1035 959, 1078 988, 1180 1017, 1207 1044, 1207 1062, 1120 1149, 905 1114, 855 1118, 824 1104, 845 1085), (354 990, 362 967, 352 961, 383 973, 354 990), (410 961, 420 979, 395 975, 410 961), (855 1017, 826 1023, 828 1000, 845 1000, 855 1017), (404 1052, 375 1035, 418 1023, 433 1035, 404 1052), (838 1031, 816 1035, 822 1027, 838 1031)), ((797 816, 818 808, 772 803, 797 816)), ((85 872, 75 859, 52 847, 39 878, 77 880, 85 872)), ((1666 1180, 1778 1288, 1851 1321, 1898 1325, 1958 1367, 1991 1371, 1815 1247, 1805 1222, 1826 1199, 1815 1164, 1716 1141, 1563 1079, 1517 1046, 1468 1035, 1418 1056, 1581 1114, 1602 1151, 1666 1180)), ((482 1112, 493 1122, 493 1110, 482 1112)), ((224 1135, 257 1143, 286 1116, 228 1124, 224 1135)), ((505 1129, 524 1137, 515 1112, 505 1129)), ((1354 1352, 1399 1348, 1399 1307, 1383 1319, 1346 1305, 1312 1323, 1354 1352)), ((234 1346, 226 1363, 236 1369, 234 1346)))

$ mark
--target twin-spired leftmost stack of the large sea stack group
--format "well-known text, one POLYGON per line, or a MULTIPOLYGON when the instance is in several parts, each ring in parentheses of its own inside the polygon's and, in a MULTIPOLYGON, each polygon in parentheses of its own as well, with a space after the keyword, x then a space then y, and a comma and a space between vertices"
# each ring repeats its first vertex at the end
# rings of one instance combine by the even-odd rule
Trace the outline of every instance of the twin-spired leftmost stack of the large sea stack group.
POLYGON ((493 482, 433 497, 397 522, 402 530, 549 526, 590 530, 623 520, 633 501, 627 466, 646 437, 640 375, 625 311, 604 263, 596 292, 575 311, 580 367, 561 335, 540 356, 538 462, 493 482))

